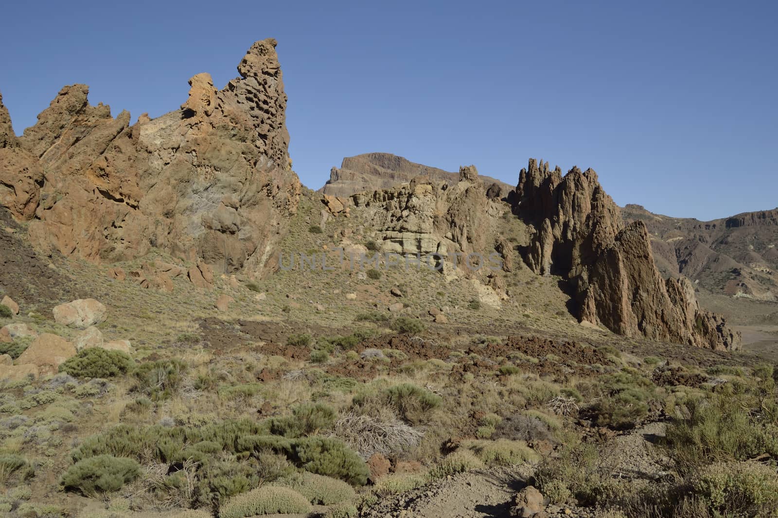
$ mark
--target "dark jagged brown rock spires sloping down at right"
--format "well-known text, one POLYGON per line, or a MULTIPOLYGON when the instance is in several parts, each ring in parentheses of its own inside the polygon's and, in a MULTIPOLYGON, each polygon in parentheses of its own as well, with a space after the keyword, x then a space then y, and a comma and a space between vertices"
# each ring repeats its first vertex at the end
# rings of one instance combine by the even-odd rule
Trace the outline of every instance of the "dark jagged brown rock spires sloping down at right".
POLYGON ((621 335, 739 348, 739 334, 699 308, 689 280, 662 278, 645 225, 624 226, 593 170, 562 177, 558 167, 531 159, 509 199, 534 229, 524 262, 535 273, 565 277, 582 320, 621 335))

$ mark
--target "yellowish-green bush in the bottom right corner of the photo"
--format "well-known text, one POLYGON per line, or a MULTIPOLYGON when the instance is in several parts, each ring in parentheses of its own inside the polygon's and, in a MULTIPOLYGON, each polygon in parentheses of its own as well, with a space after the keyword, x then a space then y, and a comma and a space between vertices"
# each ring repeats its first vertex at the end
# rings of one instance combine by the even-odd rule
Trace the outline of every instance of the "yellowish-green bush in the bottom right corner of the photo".
POLYGON ((694 494, 717 516, 770 516, 778 509, 775 468, 757 462, 706 466, 692 486, 694 494))

